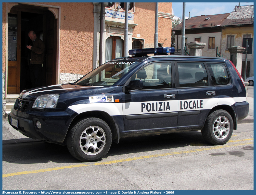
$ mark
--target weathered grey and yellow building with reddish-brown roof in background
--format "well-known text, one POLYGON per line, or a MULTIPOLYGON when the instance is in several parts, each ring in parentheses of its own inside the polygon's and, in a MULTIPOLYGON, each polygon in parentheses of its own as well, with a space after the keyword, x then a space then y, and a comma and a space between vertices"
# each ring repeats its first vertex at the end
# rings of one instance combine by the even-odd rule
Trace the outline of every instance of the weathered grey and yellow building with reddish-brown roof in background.
MULTIPOLYGON (((179 51, 182 23, 172 31, 175 31, 175 50, 179 51)), ((236 7, 227 14, 201 15, 185 20, 185 43, 194 41, 205 43, 202 49, 203 56, 216 57, 218 51, 222 57, 230 59, 228 47, 245 46, 243 42, 246 38, 251 39, 246 74, 246 77, 250 77, 253 76, 253 5, 236 7)), ((244 77, 245 54, 243 54, 242 61, 242 76, 244 77)))

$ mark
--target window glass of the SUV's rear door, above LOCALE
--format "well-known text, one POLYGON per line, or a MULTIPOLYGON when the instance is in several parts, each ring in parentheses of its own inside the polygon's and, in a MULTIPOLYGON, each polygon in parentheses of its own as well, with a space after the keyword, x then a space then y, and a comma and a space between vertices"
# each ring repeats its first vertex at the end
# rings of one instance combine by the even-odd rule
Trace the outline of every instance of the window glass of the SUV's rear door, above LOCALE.
POLYGON ((203 63, 178 62, 179 87, 208 86, 208 77, 203 63))

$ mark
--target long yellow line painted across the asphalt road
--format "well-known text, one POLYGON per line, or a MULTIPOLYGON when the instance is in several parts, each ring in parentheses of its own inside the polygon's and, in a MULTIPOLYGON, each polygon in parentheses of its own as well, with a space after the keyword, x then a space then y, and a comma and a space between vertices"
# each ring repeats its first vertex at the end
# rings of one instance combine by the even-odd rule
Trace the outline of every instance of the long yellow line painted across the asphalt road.
MULTIPOLYGON (((229 141, 229 142, 238 142, 238 141, 247 141, 247 140, 253 140, 253 139, 244 139, 244 140, 236 140, 236 141, 229 141)), ((94 163, 94 164, 78 164, 78 165, 54 167, 54 168, 47 168, 47 169, 22 171, 22 172, 16 172, 16 173, 8 173, 8 174, 3 174, 3 178, 4 177, 9 177, 9 176, 14 176, 14 175, 24 175, 24 174, 30 174, 30 173, 41 173, 41 172, 47 172, 47 171, 59 170, 59 169, 67 169, 67 168, 74 168, 74 167, 84 167, 84 166, 91 166, 91 165, 106 165, 106 164, 113 164, 113 163, 119 163, 119 162, 134 161, 134 160, 139 160, 139 159, 148 159, 148 158, 159 157, 159 156, 169 156, 169 155, 175 155, 175 154, 186 154, 186 153, 192 153, 192 152, 214 150, 214 149, 227 148, 227 147, 233 147, 233 146, 239 146, 239 145, 247 145, 247 144, 253 144, 253 142, 237 143, 237 144, 230 144, 230 145, 221 145, 221 146, 215 146, 215 147, 210 147, 210 148, 200 148, 200 149, 195 149, 195 150, 171 152, 171 153, 164 153, 164 154, 154 154, 154 155, 149 155, 149 156, 139 156, 139 157, 128 158, 128 159, 120 159, 120 160, 115 160, 115 161, 98 162, 98 163, 94 163)))

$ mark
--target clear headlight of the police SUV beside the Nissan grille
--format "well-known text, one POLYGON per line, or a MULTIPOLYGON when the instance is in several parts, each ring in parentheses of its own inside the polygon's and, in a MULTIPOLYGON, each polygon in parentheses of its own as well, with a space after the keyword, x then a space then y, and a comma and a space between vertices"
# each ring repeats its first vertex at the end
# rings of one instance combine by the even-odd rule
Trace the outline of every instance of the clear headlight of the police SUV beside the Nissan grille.
POLYGON ((33 104, 33 108, 43 109, 43 108, 56 108, 59 94, 46 94, 37 97, 33 104))

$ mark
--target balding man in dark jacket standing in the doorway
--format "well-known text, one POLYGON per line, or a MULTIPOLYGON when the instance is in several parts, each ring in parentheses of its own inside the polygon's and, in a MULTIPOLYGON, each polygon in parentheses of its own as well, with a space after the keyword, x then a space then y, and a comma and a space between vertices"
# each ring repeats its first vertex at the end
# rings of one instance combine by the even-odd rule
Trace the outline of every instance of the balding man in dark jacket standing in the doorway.
POLYGON ((29 31, 28 36, 32 41, 32 43, 27 46, 27 48, 29 48, 28 65, 30 71, 30 80, 33 88, 41 87, 42 63, 44 62, 45 44, 41 39, 37 38, 34 31, 29 31))

